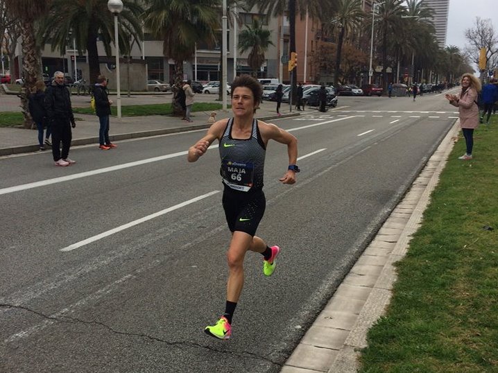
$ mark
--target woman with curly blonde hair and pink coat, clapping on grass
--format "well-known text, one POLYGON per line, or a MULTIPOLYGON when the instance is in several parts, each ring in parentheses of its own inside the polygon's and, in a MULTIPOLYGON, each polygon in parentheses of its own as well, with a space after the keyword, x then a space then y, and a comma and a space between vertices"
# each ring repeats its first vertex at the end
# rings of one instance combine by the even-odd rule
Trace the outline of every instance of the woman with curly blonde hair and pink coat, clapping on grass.
POLYGON ((474 129, 479 125, 479 107, 477 95, 481 91, 481 81, 472 73, 464 73, 461 79, 462 90, 459 94, 445 94, 453 106, 458 107, 458 117, 465 137, 466 152, 458 159, 472 159, 474 147, 474 129))

